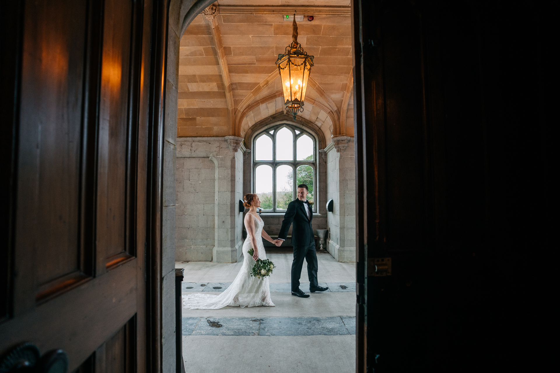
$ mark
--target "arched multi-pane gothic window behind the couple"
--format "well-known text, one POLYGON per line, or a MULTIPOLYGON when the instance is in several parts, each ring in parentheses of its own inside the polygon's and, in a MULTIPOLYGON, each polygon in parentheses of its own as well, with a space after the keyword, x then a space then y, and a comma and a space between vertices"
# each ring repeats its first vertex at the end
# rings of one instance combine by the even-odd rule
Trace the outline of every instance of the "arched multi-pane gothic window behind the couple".
MULTIPOLYGON (((297 186, 309 187, 314 200, 317 179, 316 140, 313 135, 289 124, 268 128, 253 141, 253 190, 264 211, 286 211, 296 199, 297 186)), ((313 205, 316 212, 316 204, 313 205)))

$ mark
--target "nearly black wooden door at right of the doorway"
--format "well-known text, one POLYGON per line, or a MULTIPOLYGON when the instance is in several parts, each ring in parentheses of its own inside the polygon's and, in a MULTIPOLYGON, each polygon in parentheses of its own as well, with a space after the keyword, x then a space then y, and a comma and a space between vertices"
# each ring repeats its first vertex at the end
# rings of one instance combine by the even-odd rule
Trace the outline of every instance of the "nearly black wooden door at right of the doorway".
POLYGON ((359 372, 546 370, 546 281, 519 275, 528 253, 556 263, 535 9, 352 1, 359 372))

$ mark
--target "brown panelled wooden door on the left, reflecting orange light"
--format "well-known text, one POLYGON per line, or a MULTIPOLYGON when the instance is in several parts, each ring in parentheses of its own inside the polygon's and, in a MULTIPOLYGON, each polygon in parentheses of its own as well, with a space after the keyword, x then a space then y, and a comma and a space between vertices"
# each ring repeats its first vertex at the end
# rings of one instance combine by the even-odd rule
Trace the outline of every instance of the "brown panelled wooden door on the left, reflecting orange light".
POLYGON ((146 371, 151 2, 10 3, 0 354, 30 342, 69 371, 146 371))

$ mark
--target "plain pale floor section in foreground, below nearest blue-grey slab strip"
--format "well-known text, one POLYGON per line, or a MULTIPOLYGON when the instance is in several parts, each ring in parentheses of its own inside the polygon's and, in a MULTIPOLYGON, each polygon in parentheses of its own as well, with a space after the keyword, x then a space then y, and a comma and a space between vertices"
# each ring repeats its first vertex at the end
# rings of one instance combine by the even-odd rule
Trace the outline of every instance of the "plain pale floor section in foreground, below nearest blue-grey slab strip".
POLYGON ((184 336, 186 373, 354 373, 356 336, 184 336))

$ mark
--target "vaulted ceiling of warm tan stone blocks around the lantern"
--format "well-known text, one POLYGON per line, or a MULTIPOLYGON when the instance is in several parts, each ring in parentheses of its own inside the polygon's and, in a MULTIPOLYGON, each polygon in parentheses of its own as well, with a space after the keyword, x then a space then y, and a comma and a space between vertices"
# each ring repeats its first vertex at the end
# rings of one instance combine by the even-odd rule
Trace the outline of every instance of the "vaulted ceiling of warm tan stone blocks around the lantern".
POLYGON ((276 62, 292 42, 314 55, 304 112, 330 143, 353 136, 349 0, 221 0, 186 29, 180 44, 178 136, 244 136, 282 112, 276 62), (307 16, 314 16, 312 21, 307 16))

